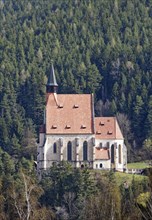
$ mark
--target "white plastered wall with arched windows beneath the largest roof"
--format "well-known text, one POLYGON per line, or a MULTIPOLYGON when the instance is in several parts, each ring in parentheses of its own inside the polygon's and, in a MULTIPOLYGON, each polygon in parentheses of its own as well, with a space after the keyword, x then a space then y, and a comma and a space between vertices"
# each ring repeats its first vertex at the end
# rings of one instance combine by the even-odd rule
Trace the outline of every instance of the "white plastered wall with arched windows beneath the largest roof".
POLYGON ((41 150, 44 153, 44 167, 47 169, 53 165, 53 162, 67 161, 67 144, 69 141, 72 143, 72 165, 74 167, 80 167, 83 162, 83 143, 88 143, 88 163, 90 167, 93 167, 93 144, 92 138, 94 135, 46 135, 46 142, 41 150), (76 146, 76 139, 78 139, 79 145, 76 146), (61 144, 62 140, 62 144, 61 144), (57 145, 57 152, 53 152, 53 144, 57 145), (90 163, 89 163, 90 161, 90 163))

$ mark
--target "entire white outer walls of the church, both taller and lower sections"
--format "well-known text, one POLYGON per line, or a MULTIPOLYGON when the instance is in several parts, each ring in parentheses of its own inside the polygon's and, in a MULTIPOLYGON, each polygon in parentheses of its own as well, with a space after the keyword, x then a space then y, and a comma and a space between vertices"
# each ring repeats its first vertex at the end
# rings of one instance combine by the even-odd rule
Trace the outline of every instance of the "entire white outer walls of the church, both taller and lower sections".
POLYGON ((124 140, 100 140, 95 135, 46 135, 40 133, 37 166, 46 170, 60 161, 69 161, 73 167, 87 166, 93 169, 116 169, 123 171, 127 165, 124 140), (71 143, 71 158, 68 160, 68 143, 71 143), (84 142, 87 142, 87 160, 84 160, 84 142), (101 147, 102 146, 102 147, 101 147), (96 159, 95 148, 107 149, 108 159, 96 159), (112 161, 113 148, 113 161, 112 161))

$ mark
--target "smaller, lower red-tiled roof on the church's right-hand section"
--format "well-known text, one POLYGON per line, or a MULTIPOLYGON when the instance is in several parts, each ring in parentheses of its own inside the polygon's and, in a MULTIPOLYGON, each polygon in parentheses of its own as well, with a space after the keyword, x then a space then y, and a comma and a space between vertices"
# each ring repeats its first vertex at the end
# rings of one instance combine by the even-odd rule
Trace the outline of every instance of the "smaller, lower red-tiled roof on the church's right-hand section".
POLYGON ((124 139, 115 117, 95 118, 96 139, 124 139))

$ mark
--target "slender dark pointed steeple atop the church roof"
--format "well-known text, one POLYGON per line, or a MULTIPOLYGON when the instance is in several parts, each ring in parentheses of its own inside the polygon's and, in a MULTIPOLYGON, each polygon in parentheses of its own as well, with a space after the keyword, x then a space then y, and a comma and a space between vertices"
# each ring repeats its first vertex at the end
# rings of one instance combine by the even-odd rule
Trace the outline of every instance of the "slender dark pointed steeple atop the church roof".
POLYGON ((53 64, 52 64, 51 71, 50 71, 50 74, 49 74, 49 78, 48 78, 48 81, 47 81, 47 84, 46 84, 46 92, 47 93, 56 93, 57 87, 58 87, 58 84, 56 82, 54 67, 53 67, 53 64))

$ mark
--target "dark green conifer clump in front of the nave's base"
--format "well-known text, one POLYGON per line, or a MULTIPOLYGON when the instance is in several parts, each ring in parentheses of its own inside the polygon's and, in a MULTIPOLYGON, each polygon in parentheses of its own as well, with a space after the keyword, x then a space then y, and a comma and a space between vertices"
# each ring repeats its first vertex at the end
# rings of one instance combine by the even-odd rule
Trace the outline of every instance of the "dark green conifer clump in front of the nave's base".
POLYGON ((45 172, 41 180, 45 194, 41 201, 45 205, 62 206, 66 204, 66 196, 73 194, 73 201, 86 199, 95 192, 95 183, 90 171, 73 169, 69 163, 54 165, 45 172))

